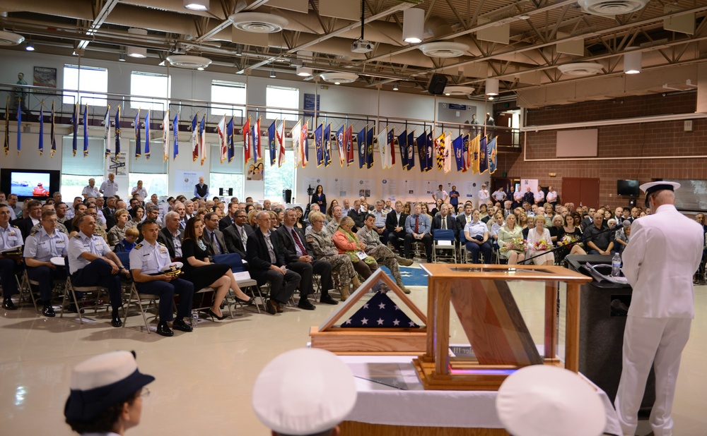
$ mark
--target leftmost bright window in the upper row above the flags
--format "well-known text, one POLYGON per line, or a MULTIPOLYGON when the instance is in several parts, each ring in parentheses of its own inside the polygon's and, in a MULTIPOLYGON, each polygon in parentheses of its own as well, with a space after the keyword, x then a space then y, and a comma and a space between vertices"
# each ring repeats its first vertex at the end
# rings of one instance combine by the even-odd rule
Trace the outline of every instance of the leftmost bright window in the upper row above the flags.
MULTIPOLYGON (((93 66, 64 65, 64 89, 81 91, 80 104, 106 106, 105 92, 108 92, 108 70, 93 66), (103 95, 92 92, 103 92, 103 95)), ((64 104, 76 103, 76 92, 64 92, 64 104)))

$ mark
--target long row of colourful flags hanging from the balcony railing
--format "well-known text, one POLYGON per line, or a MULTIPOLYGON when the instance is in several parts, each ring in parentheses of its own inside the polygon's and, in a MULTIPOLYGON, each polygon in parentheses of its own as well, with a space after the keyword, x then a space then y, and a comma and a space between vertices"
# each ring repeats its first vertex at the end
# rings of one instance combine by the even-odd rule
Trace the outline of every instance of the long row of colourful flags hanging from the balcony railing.
MULTIPOLYGON (((112 155, 115 152, 117 157, 120 153, 120 107, 117 107, 115 111, 115 128, 113 129, 114 134, 111 133, 111 114, 110 105, 105 111, 105 116, 103 119, 104 135, 105 139, 105 157, 112 155), (111 143, 115 144, 113 150, 111 150, 111 143)), ((4 138, 4 150, 5 155, 8 154, 10 150, 9 141, 9 126, 8 126, 8 114, 9 114, 9 97, 6 102, 5 110, 5 138, 4 138)), ((73 155, 76 156, 76 151, 78 148, 78 124, 79 119, 83 118, 83 155, 88 155, 88 104, 86 104, 83 110, 83 116, 81 116, 81 108, 79 104, 74 105, 74 113, 71 117, 71 126, 73 133, 72 147, 73 155)), ((150 110, 148 109, 145 113, 144 118, 141 118, 141 110, 138 109, 134 121, 134 135, 135 135, 135 158, 145 156, 146 159, 150 159, 150 110), (144 136, 144 152, 142 148, 141 131, 144 126, 145 136, 144 136)), ((18 133, 17 133, 17 151, 21 151, 21 123, 22 123, 22 111, 21 105, 18 104, 18 133)), ((173 140, 170 142, 170 111, 165 111, 164 118, 160 128, 162 129, 162 149, 163 149, 163 161, 169 159, 170 156, 170 145, 173 150, 173 159, 177 158, 179 154, 179 113, 175 114, 173 122, 172 136, 173 140)), ((243 126, 243 162, 247 163, 250 159, 253 162, 257 162, 259 159, 263 159, 265 162, 266 157, 262 154, 262 138, 260 130, 260 119, 257 119, 255 123, 251 123, 250 117, 247 119, 245 125, 243 126)), ((191 135, 191 147, 192 147, 192 159, 194 162, 201 158, 201 165, 204 164, 206 160, 206 116, 201 117, 199 121, 199 114, 194 115, 191 123, 192 135, 191 135)), ((455 161, 455 166, 457 171, 466 172, 471 170, 472 174, 481 174, 484 171, 489 171, 493 174, 498 166, 497 161, 497 145, 496 138, 486 138, 486 136, 477 135, 472 138, 470 134, 459 135, 457 138, 452 140, 452 133, 442 133, 438 137, 433 137, 433 133, 430 131, 423 131, 421 135, 416 136, 414 131, 408 133, 407 129, 403 131, 400 135, 395 135, 395 129, 393 128, 382 128, 378 135, 374 135, 374 128, 368 128, 368 126, 361 129, 354 135, 352 131, 353 126, 346 126, 344 123, 341 125, 338 131, 334 133, 334 140, 337 143, 337 148, 339 150, 339 164, 341 167, 351 166, 355 162, 354 155, 358 155, 358 167, 362 169, 364 166, 366 169, 373 167, 374 153, 373 144, 374 138, 375 143, 378 145, 378 153, 380 155, 380 164, 382 169, 389 169, 395 165, 396 162, 396 150, 399 150, 399 162, 403 169, 411 170, 415 166, 415 155, 418 155, 420 171, 426 172, 431 171, 433 166, 437 164, 437 169, 439 171, 444 171, 445 174, 452 170, 452 159, 455 161)), ((51 116, 51 149, 52 157, 54 152, 57 151, 57 143, 55 140, 55 129, 56 124, 54 122, 54 102, 52 102, 52 116, 51 116)), ((219 138, 219 150, 221 163, 232 162, 235 157, 235 120, 231 117, 230 121, 226 122, 226 116, 224 115, 221 121, 218 122, 216 128, 219 138)), ((291 129, 292 137, 292 148, 294 155, 294 165, 302 166, 303 168, 307 166, 309 162, 309 122, 304 123, 300 120, 291 129)), ((315 128, 314 131, 314 142, 315 142, 315 152, 317 159, 317 167, 319 166, 329 166, 332 164, 332 128, 331 124, 324 123, 320 124, 315 128)), ((44 152, 44 104, 40 106, 40 139, 39 139, 39 152, 40 155, 44 152)), ((267 152, 269 163, 271 166, 278 164, 282 166, 285 162, 285 121, 275 120, 271 123, 267 129, 267 152)))

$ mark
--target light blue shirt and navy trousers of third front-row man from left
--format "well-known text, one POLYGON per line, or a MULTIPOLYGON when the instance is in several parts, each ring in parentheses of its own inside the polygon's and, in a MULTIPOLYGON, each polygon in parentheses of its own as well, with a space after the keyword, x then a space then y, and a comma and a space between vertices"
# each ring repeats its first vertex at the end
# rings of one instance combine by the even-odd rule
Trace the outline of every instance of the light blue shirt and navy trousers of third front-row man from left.
POLYGON ((71 274, 71 283, 74 286, 103 286, 107 288, 110 305, 113 310, 118 310, 122 305, 120 276, 113 275, 110 264, 101 258, 88 262, 81 257, 86 252, 105 256, 109 251, 110 248, 102 237, 86 236, 83 231, 79 231, 69 241, 69 274, 71 274))

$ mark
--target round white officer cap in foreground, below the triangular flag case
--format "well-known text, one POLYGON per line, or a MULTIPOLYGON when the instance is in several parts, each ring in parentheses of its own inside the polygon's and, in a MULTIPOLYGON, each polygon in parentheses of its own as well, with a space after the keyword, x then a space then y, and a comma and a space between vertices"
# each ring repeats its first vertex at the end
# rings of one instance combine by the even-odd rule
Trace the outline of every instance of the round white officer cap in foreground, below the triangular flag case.
POLYGON ((354 374, 322 349, 282 353, 260 372, 253 386, 255 415, 284 435, 311 435, 334 428, 356 404, 354 374))

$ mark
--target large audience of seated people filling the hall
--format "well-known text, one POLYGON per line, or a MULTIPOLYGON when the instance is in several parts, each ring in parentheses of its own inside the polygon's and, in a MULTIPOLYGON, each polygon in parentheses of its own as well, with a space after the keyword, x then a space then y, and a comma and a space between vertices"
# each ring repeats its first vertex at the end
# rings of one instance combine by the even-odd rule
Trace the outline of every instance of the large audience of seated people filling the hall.
MULTIPOLYGON (((493 199, 481 202, 479 209, 474 209, 471 201, 460 202, 455 208, 448 199, 437 198, 431 212, 427 202, 397 200, 390 204, 390 200, 361 197, 351 206, 349 199, 341 199, 341 203, 334 199, 327 207, 327 215, 318 211, 319 205, 308 205, 306 218, 301 207, 285 210, 276 202, 265 200, 261 205, 252 198, 246 202, 239 202, 238 198, 188 200, 180 195, 160 202, 157 195, 151 195, 145 203, 143 196, 136 194, 126 207, 118 195, 86 195, 84 200, 76 197, 67 205, 59 193, 44 204, 32 199, 18 204, 16 195, 4 200, 0 193, 0 249, 24 246, 21 255, 0 254, 3 306, 6 310, 16 308, 12 297, 18 289, 13 275, 22 274, 27 267, 30 279, 40 282, 43 315, 54 316, 52 281, 65 272, 49 259, 68 256, 75 284, 98 284, 109 289, 111 324, 121 325, 119 289, 127 272, 113 253, 131 253, 134 257, 134 250, 144 250, 147 243, 161 256, 159 264, 165 259, 184 262, 186 274, 180 280, 190 287, 180 285, 176 289, 173 280, 164 279, 163 274, 152 271, 155 265, 146 264, 143 266, 150 272, 138 272, 139 289, 162 281, 171 284, 170 293, 165 295, 174 295, 210 286, 216 292, 209 315, 221 320, 225 317, 221 311, 223 298, 229 289, 238 300, 253 302, 252 296, 240 290, 228 266, 212 260, 214 255, 237 253, 248 260, 246 267, 259 285, 269 282, 269 300, 265 304, 268 313, 283 312, 298 287, 299 307, 311 310, 315 308, 309 301, 314 292, 312 280, 320 281, 320 303, 336 304, 329 291, 339 291, 344 301, 353 291, 350 286, 358 286, 370 277, 379 263, 390 269, 401 289, 409 292, 402 284, 399 265, 410 265, 416 251, 421 262, 431 262, 436 231, 452 231, 455 243, 466 248, 471 262, 481 262, 483 254, 483 262, 487 263, 514 265, 527 260, 536 265, 552 265, 563 262, 567 255, 621 253, 631 236, 630 224, 650 213, 641 207, 587 207, 569 202, 553 205, 530 190, 510 190, 507 196, 501 192, 497 190, 493 199), (11 202, 14 204, 8 207, 11 202), (144 239, 145 222, 151 223, 147 229, 149 241, 144 239), (414 243, 421 246, 415 248, 414 243), (336 286, 332 272, 334 278, 339 278, 336 286)), ((697 214, 695 219, 705 226, 703 214, 697 214)), ((705 229, 707 232, 707 226, 705 229)), ((703 267, 696 272, 695 280, 704 280, 703 267)), ((180 306, 180 315, 187 316, 191 301, 184 296, 182 299, 189 302, 180 306)), ((165 322, 172 320, 167 315, 171 310, 171 306, 160 309, 165 322)), ((188 326, 182 327, 177 322, 178 329, 186 331, 188 326)), ((159 330, 165 335, 171 332, 161 322, 159 330)))

